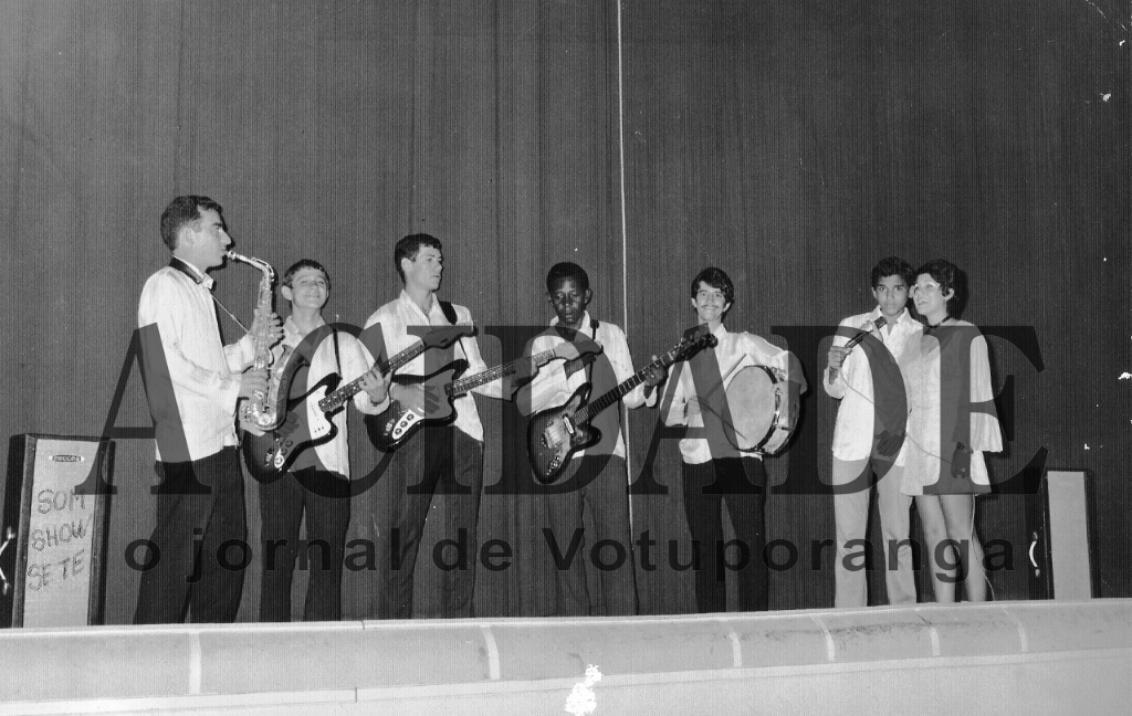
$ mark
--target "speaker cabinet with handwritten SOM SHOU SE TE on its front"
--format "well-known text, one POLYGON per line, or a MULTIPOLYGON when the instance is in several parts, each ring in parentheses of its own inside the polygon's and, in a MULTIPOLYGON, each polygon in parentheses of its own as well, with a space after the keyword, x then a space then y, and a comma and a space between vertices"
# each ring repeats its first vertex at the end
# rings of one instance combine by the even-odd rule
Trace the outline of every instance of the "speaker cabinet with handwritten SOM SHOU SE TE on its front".
MULTIPOLYGON (((76 494, 105 471, 112 443, 95 438, 16 435, 9 446, 0 569, 0 616, 14 627, 75 627, 102 616, 105 498, 76 494), (12 559, 15 558, 15 559, 12 559), (11 564, 11 572, 3 567, 11 564), (10 584, 9 584, 10 583, 10 584)), ((109 482, 109 480, 108 480, 109 482)))

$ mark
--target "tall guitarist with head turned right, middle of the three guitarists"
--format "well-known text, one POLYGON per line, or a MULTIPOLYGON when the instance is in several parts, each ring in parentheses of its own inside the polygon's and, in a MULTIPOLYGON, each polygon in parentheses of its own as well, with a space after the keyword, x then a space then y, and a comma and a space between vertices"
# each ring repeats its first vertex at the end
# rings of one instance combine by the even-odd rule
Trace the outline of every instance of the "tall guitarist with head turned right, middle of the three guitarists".
MULTIPOLYGON (((462 305, 445 303, 436 297, 444 271, 444 255, 438 239, 429 234, 411 234, 397 242, 393 262, 404 284, 401 295, 379 308, 366 321, 369 329, 380 325, 387 353, 401 351, 420 340, 429 326, 470 325, 472 314, 462 305)), ((372 363, 372 356, 370 363, 372 363)), ((394 376, 389 396, 404 407, 426 419, 439 406, 427 405, 423 386, 401 385, 404 376, 424 377, 453 360, 466 361, 472 374, 484 372, 474 338, 462 338, 451 353, 428 351, 394 376)), ((524 361, 517 376, 537 371, 531 361, 524 361)), ((477 386, 474 392, 501 398, 511 395, 509 378, 477 386)), ((447 523, 445 540, 468 545, 468 554, 478 554, 477 525, 479 523, 480 492, 483 485, 483 426, 471 395, 461 395, 453 403, 455 420, 449 424, 426 423, 420 431, 398 447, 387 450, 388 460, 374 498, 375 552, 377 569, 367 570, 378 581, 367 593, 374 594, 376 604, 368 611, 378 619, 409 619, 413 615, 413 573, 424 519, 429 515, 432 495, 445 500, 447 523)), ((369 421, 368 421, 369 422, 369 421)), ((370 426, 372 432, 372 426, 370 426)), ((377 445, 379 449, 385 446, 377 445)), ((426 554, 432 553, 427 545, 426 554)), ((471 616, 472 590, 475 584, 475 559, 466 569, 440 572, 441 592, 435 614, 427 616, 471 616)))

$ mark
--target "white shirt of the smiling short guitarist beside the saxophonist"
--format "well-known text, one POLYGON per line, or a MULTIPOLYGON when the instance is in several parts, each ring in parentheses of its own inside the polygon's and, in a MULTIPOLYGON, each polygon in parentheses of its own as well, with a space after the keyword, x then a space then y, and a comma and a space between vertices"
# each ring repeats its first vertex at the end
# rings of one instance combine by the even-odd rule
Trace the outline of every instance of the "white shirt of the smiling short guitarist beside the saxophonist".
MULTIPOLYGON (((318 326, 325 326, 326 321, 319 319, 318 326)), ((316 326, 316 328, 318 327, 316 326)), ((342 361, 341 380, 338 386, 343 386, 362 373, 369 370, 369 363, 366 360, 365 348, 361 342, 344 331, 337 331, 338 336, 338 359, 342 361)), ((286 320, 283 321, 283 343, 276 347, 273 353, 276 354, 276 360, 280 359, 283 353, 282 347, 288 346, 292 351, 302 343, 306 336, 299 330, 299 326, 295 325, 294 319, 288 316, 286 320)), ((297 386, 292 383, 292 389, 297 389, 300 392, 307 392, 310 390, 310 386, 318 383, 331 373, 338 373, 338 364, 334 354, 334 336, 333 334, 327 334, 326 337, 319 342, 318 346, 315 348, 314 354, 310 356, 310 370, 303 371, 307 376, 306 386, 297 386), (306 388, 306 390, 303 390, 306 388)), ((295 376, 298 378, 298 374, 295 376)), ((292 392, 292 395, 294 395, 292 392)), ((365 390, 359 390, 353 397, 354 407, 360 412, 367 413, 369 415, 377 415, 389 406, 389 398, 386 396, 385 400, 379 405, 374 405, 369 399, 369 394, 365 390)), ((309 399, 306 402, 307 408, 307 424, 314 424, 316 412, 320 412, 318 408, 318 400, 309 399)), ((334 424, 336 432, 331 440, 315 446, 315 455, 318 457, 318 463, 321 464, 323 469, 327 469, 333 473, 337 473, 343 477, 350 476, 350 443, 349 443, 349 431, 346 428, 348 416, 346 412, 337 411, 331 422, 334 424)), ((295 468, 301 468, 307 466, 306 463, 314 460, 309 459, 309 456, 300 454, 295 459, 295 468), (305 460, 305 458, 307 458, 305 460)))

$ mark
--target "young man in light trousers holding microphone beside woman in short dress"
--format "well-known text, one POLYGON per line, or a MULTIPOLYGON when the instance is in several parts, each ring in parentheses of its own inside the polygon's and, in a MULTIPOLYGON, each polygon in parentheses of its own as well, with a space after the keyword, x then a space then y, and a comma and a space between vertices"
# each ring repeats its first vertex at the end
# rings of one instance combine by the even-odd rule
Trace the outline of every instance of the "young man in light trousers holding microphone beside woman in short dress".
POLYGON ((860 547, 865 544, 873 474, 880 500, 889 604, 916 603, 908 542, 911 498, 900 492, 907 403, 897 365, 909 338, 923 331, 904 308, 908 287, 915 279, 916 273, 907 261, 897 257, 881 260, 873 267, 876 308, 841 321, 829 352, 822 383, 825 392, 841 400, 833 429, 834 606, 868 603, 860 547), (854 554, 856 560, 850 559, 854 554))

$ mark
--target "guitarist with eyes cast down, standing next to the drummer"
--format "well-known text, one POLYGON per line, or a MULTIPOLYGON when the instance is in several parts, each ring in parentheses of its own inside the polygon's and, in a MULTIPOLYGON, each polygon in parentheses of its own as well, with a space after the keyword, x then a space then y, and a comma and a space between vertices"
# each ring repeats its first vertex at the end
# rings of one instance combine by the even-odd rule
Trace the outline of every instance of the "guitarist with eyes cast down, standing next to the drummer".
MULTIPOLYGON (((586 305, 592 297, 590 277, 581 266, 566 261, 550 268, 547 274, 547 302, 555 311, 550 321, 552 328, 529 344, 528 354, 534 355, 572 339, 580 346, 598 343, 604 359, 552 363, 542 369, 516 395, 521 413, 531 414, 564 405, 586 382, 592 383, 591 395, 603 395, 633 376, 633 359, 625 333, 614 324, 590 317, 586 305)), ((625 405, 631 408, 655 405, 654 388, 664 380, 664 374, 663 369, 651 368, 644 382, 625 395, 625 405)), ((580 555, 588 554, 590 545, 600 540, 632 544, 628 475, 618 404, 614 403, 598 413, 586 429, 600 431, 599 440, 578 450, 555 478, 554 485, 564 486, 566 491, 557 494, 551 491, 546 495, 547 525, 560 552, 566 551, 575 530, 582 528, 583 511, 590 511, 594 534, 583 533, 580 555)), ((557 610, 548 610, 552 614, 636 614, 636 579, 632 559, 619 569, 601 571, 592 567, 586 569, 586 560, 578 558, 573 560, 568 570, 557 571, 557 575, 560 596, 557 610)))

